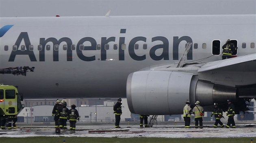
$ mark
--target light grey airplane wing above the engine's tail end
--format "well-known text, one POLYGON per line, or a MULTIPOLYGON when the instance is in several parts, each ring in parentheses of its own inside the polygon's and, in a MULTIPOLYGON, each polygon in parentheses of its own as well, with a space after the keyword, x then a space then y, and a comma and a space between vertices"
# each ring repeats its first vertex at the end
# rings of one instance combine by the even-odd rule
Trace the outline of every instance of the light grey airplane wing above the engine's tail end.
POLYGON ((198 72, 210 70, 256 71, 256 54, 206 63, 198 72))

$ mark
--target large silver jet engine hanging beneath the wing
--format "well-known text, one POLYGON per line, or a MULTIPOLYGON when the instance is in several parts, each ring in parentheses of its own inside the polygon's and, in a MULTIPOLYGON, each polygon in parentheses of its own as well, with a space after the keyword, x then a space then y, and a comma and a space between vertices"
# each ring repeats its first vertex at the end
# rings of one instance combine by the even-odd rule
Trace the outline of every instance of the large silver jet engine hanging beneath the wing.
POLYGON ((200 81, 194 74, 178 71, 137 71, 126 84, 128 107, 144 115, 182 114, 186 101, 201 105, 236 99, 236 88, 200 81))

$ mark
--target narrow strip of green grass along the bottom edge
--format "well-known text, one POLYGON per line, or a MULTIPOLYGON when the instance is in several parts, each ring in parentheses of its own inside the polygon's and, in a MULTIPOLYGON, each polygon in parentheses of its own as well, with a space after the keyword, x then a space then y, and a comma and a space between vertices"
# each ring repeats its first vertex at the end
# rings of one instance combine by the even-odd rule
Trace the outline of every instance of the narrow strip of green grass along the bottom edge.
POLYGON ((103 137, 1 137, 1 143, 251 143, 250 137, 243 138, 103 138, 103 137))

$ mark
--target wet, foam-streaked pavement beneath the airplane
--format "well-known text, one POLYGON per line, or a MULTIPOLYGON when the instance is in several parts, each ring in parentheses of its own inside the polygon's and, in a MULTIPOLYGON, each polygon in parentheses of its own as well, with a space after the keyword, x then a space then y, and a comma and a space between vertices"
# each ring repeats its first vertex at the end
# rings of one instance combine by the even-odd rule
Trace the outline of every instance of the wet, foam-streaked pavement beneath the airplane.
POLYGON ((0 130, 0 137, 166 137, 166 138, 205 138, 205 137, 256 137, 256 124, 239 124, 236 128, 213 128, 204 125, 203 129, 183 128, 183 125, 159 125, 152 128, 122 126, 77 126, 76 131, 61 130, 55 133, 53 126, 20 126, 16 130, 0 130))

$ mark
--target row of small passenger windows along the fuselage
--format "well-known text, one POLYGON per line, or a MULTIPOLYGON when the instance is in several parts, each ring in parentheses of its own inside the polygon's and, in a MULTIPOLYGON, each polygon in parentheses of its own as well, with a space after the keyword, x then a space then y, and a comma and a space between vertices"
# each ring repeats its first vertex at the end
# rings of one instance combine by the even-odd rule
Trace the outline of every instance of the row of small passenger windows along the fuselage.
MULTIPOLYGON (((255 44, 254 42, 250 43, 250 47, 251 48, 255 48, 255 44)), ((113 45, 113 49, 114 50, 117 50, 118 46, 117 44, 114 44, 113 45)), ((139 44, 135 44, 134 45, 134 48, 135 50, 139 49, 139 44)), ((144 50, 147 49, 147 44, 143 44, 143 47, 142 47, 144 50)), ((197 49, 198 48, 198 44, 197 43, 194 43, 194 46, 193 46, 194 49, 197 49)), ((202 48, 203 49, 206 49, 206 43, 203 43, 202 44, 202 48)), ((246 48, 246 43, 242 43, 242 48, 246 48)), ((18 49, 17 45, 13 45, 12 47, 12 50, 13 51, 16 51, 18 49)), ((43 46, 42 45, 38 45, 37 46, 37 50, 41 51, 43 49, 43 46)), ((51 49, 51 45, 46 45, 46 50, 50 50, 51 49)), ((56 44, 54 45, 54 48, 53 48, 55 51, 59 50, 59 45, 56 44)), ((79 45, 79 50, 84 50, 85 49, 85 46, 83 44, 80 44, 79 45)), ((100 44, 97 44, 96 46, 96 49, 97 50, 100 50, 101 49, 101 45, 100 44)), ((109 50, 109 44, 105 44, 104 45, 104 49, 105 50, 109 50)), ((125 50, 126 49, 126 44, 122 44, 121 45, 121 49, 122 50, 125 50)), ((9 50, 9 46, 8 45, 5 45, 4 46, 4 50, 5 51, 8 51, 9 50)), ((25 45, 21 45, 21 48, 20 48, 21 51, 24 51, 26 50, 26 46, 25 45)), ((33 51, 34 50, 34 46, 33 45, 29 45, 28 47, 28 50, 30 51, 33 51)), ((63 50, 67 50, 67 45, 63 45, 63 50)), ((72 44, 71 45, 71 50, 76 50, 76 45, 72 44)))

